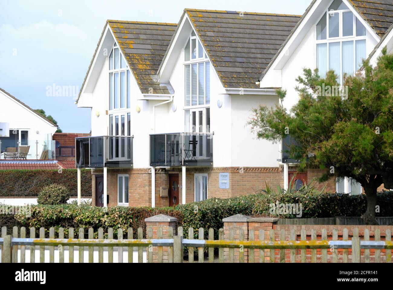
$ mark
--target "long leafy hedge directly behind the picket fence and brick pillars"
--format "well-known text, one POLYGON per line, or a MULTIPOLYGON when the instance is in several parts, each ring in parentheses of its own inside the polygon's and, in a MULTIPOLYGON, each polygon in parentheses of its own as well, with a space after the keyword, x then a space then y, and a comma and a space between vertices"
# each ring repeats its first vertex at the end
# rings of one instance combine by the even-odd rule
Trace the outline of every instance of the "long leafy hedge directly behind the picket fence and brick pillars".
MULTIPOLYGON (((300 194, 266 194, 258 193, 229 199, 208 199, 201 202, 181 204, 167 208, 149 207, 123 207, 115 206, 107 210, 95 206, 77 206, 75 204, 63 204, 55 206, 34 205, 31 206, 31 217, 24 215, 7 215, 7 226, 17 225, 36 228, 50 227, 63 228, 90 228, 96 233, 102 227, 104 232, 108 228, 114 229, 117 235, 118 229, 139 227, 145 230, 146 217, 151 217, 160 213, 176 217, 177 226, 183 226, 184 237, 188 236, 188 228, 213 228, 217 237, 218 230, 223 226, 222 219, 237 213, 248 216, 272 216, 269 213, 270 203, 302 203, 302 218, 312 217, 336 217, 336 216, 360 216, 365 212, 367 201, 365 195, 347 194, 320 194, 320 195, 300 195, 300 194), (13 219, 14 224, 10 219, 13 219)), ((380 212, 377 216, 393 216, 393 192, 381 192, 377 195, 377 204, 380 205, 380 212)), ((277 216, 277 215, 274 215, 277 216)), ((296 215, 281 215, 279 217, 292 218, 296 215)), ((0 215, 0 222, 1 222, 0 215)), ((0 224, 4 226, 5 224, 0 224)), ((198 231, 195 232, 195 237, 198 231)), ((208 231, 205 231, 206 237, 208 231)))

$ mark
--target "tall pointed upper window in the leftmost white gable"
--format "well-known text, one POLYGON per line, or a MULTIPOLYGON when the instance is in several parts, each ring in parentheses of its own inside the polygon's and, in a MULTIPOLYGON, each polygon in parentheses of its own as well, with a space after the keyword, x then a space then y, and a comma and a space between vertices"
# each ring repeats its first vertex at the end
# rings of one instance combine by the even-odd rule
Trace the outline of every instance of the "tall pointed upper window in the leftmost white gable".
POLYGON ((109 109, 130 108, 131 73, 120 49, 114 45, 109 56, 109 109))

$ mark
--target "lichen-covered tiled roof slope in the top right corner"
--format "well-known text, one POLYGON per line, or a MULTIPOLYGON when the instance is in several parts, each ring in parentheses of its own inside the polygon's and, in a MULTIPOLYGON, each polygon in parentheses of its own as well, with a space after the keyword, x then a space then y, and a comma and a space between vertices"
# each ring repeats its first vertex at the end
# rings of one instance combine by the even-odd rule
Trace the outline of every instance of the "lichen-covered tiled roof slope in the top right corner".
POLYGON ((393 0, 348 0, 381 38, 393 23, 393 0))

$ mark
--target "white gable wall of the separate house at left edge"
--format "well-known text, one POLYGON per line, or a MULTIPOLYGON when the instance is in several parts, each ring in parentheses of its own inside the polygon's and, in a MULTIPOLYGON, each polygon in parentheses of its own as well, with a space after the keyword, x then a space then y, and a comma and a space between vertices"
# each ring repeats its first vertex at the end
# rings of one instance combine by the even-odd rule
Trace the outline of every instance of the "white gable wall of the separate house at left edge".
MULTIPOLYGON (((57 126, 53 126, 2 91, 0 91, 0 104, 0 122, 9 123, 10 130, 29 131, 28 145, 30 145, 30 150, 28 159, 36 159, 37 151, 39 158, 42 153, 44 141, 48 142, 48 134, 55 133, 57 126), (39 142, 38 145, 36 144, 36 140, 39 142)), ((30 106, 34 107, 34 104, 30 104, 30 106)), ((51 140, 52 137, 50 135, 49 141, 51 140)))

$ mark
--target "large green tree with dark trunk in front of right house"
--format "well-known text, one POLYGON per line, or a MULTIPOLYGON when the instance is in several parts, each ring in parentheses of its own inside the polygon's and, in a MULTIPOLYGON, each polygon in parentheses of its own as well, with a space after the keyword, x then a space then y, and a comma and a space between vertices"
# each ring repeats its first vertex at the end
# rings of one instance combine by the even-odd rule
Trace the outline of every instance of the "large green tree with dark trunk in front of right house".
POLYGON ((283 106, 286 91, 278 90, 279 103, 253 109, 248 125, 257 138, 273 142, 289 133, 296 142, 288 151, 300 160, 299 170, 326 169, 320 182, 333 176, 360 182, 367 196, 362 219, 377 224, 377 188, 393 188, 393 55, 385 48, 375 67, 363 65, 364 73, 344 75, 343 87, 334 71, 321 78, 318 69, 303 69, 290 112, 283 106))

